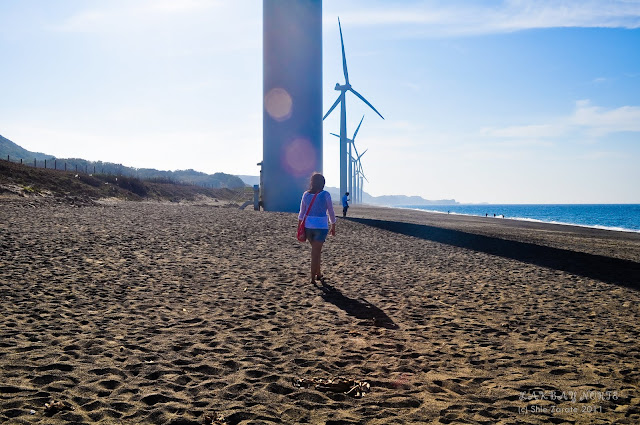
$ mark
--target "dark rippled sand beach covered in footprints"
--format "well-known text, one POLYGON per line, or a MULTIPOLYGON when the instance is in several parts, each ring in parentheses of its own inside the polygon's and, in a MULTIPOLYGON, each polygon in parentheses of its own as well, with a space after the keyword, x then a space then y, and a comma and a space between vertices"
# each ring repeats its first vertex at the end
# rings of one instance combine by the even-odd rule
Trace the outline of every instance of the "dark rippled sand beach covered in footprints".
POLYGON ((349 212, 0 199, 0 422, 640 423, 640 234, 349 212))

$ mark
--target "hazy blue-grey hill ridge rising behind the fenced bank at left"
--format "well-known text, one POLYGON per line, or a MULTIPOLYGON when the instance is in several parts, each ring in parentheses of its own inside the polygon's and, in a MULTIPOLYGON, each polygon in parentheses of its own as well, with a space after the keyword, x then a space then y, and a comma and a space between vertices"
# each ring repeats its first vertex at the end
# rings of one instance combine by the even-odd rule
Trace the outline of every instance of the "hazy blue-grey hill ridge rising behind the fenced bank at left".
POLYGON ((153 168, 126 167, 122 164, 111 162, 87 161, 80 158, 56 158, 53 155, 30 152, 11 140, 0 136, 0 159, 7 158, 12 162, 22 162, 41 168, 46 166, 47 168, 59 170, 84 171, 86 174, 112 174, 143 180, 159 179, 209 188, 240 189, 245 186, 240 178, 225 173, 206 174, 195 170, 162 171, 153 168))

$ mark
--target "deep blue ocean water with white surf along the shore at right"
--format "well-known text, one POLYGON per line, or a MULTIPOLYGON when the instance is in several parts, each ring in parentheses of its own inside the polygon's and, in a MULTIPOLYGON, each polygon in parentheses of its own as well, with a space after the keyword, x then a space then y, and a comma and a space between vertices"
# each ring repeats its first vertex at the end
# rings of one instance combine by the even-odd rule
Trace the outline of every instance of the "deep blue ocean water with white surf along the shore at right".
POLYGON ((491 218, 495 214, 496 218, 640 233, 640 204, 406 205, 401 208, 491 218))

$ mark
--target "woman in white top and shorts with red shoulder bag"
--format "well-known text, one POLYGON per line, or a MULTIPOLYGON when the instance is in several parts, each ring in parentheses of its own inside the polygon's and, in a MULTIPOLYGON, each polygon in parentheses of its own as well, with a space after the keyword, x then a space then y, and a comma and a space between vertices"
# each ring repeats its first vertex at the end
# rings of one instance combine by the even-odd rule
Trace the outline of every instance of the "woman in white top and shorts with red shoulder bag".
POLYGON ((298 214, 298 226, 304 220, 305 234, 311 244, 311 283, 323 278, 320 272, 320 257, 327 234, 336 235, 336 214, 333 211, 331 195, 324 190, 324 183, 322 174, 313 173, 309 190, 302 194, 300 214, 298 214), (329 213, 328 221, 327 212, 329 213))

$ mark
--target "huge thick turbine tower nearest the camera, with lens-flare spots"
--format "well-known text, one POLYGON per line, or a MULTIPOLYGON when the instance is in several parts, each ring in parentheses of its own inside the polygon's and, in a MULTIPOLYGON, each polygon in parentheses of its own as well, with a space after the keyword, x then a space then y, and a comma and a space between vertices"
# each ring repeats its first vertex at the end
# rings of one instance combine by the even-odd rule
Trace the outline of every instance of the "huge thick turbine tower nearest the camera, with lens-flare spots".
POLYGON ((262 205, 295 212, 322 172, 322 0, 263 0, 262 205))

